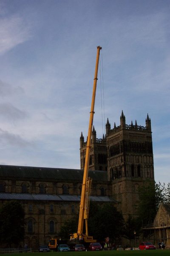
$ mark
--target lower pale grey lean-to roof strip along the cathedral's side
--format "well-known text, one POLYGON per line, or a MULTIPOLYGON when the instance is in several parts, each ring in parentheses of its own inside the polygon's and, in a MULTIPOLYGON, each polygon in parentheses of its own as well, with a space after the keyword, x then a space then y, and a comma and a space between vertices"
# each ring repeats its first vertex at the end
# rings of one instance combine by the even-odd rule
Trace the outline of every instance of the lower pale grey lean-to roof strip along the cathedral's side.
MULTIPOLYGON (((26 193, 0 193, 0 200, 28 200, 28 201, 80 201, 80 195, 51 195, 26 193)), ((108 196, 90 196, 91 201, 116 202, 108 196)))

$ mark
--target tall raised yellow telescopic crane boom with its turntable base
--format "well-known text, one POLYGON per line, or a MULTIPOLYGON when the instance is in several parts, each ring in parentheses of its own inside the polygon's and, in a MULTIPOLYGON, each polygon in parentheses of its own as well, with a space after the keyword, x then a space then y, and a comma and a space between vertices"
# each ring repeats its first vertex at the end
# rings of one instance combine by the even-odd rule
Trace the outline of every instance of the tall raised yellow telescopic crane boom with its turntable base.
POLYGON ((94 117, 94 103, 96 96, 96 85, 97 85, 97 73, 99 67, 99 55, 102 47, 97 47, 97 56, 96 56, 96 68, 94 74, 94 85, 93 85, 93 94, 91 101, 91 112, 88 126, 88 140, 86 145, 86 154, 85 154, 85 167, 83 174, 83 183, 82 183, 82 194, 80 201, 80 211, 79 211, 79 223, 77 233, 71 235, 71 239, 83 239, 85 242, 96 242, 93 239, 93 236, 88 236, 88 212, 89 212, 89 196, 91 190, 91 178, 88 177, 88 168, 89 168, 89 157, 90 157, 90 147, 91 147, 91 134, 93 128, 93 117, 94 117), (83 224, 85 220, 85 234, 83 234, 83 224))

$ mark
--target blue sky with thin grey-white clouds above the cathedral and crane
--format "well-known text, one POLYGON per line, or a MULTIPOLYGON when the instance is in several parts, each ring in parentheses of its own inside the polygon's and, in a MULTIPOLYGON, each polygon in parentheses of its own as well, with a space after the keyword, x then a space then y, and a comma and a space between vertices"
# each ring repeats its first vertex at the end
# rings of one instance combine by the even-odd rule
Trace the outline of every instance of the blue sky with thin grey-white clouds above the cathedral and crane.
POLYGON ((97 138, 148 113, 170 182, 170 0, 0 0, 0 164, 80 169, 98 45, 97 138))

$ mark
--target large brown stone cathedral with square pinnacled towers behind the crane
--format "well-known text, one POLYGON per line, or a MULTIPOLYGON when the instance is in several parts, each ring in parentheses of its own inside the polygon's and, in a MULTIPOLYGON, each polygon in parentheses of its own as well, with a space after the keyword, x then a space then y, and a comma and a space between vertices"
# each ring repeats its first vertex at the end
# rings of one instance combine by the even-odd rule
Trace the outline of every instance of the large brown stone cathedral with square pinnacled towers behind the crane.
MULTIPOLYGON (((96 138, 93 127, 89 159, 91 201, 113 202, 124 219, 136 215, 138 187, 154 181, 151 121, 146 126, 120 125, 107 119, 106 134, 96 138)), ((86 143, 80 136, 80 169, 0 165, 0 206, 18 200, 25 211, 25 241, 36 250, 58 238, 64 222, 79 213, 86 143)))

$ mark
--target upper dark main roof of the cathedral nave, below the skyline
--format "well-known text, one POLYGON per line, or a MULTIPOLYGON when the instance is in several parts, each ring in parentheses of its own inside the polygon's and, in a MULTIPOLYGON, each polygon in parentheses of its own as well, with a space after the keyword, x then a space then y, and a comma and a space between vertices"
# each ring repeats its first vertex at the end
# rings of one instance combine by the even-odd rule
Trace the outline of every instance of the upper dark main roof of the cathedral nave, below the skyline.
MULTIPOLYGON (((106 171, 89 171, 88 174, 93 181, 108 181, 106 171)), ((83 170, 0 165, 0 179, 5 177, 27 180, 82 180, 83 170)))

